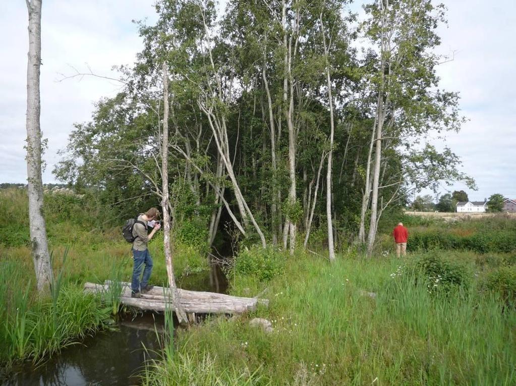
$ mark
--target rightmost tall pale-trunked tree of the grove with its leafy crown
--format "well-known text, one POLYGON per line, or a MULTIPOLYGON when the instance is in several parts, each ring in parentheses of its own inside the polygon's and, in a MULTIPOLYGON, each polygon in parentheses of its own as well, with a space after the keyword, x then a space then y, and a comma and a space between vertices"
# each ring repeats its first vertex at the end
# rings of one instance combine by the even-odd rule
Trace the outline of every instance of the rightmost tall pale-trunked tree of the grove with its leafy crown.
MULTIPOLYGON (((443 6, 434 6, 431 0, 376 0, 365 8, 370 15, 365 23, 366 35, 376 45, 377 56, 371 77, 377 96, 367 236, 367 253, 371 254, 384 203, 392 202, 401 186, 409 182, 405 169, 414 162, 424 166, 421 154, 435 159, 455 157, 447 149, 438 154, 428 145, 418 153, 414 144, 425 140, 431 131, 459 130, 462 118, 458 115, 457 94, 438 89, 436 68, 442 58, 432 49, 440 44, 436 28, 444 22, 443 6), (410 151, 400 154, 404 162, 399 172, 385 181, 389 153, 403 147, 410 151), (394 195, 382 195, 383 188, 393 185, 397 186, 394 195)), ((434 166, 432 160, 425 173, 436 173, 434 166)))

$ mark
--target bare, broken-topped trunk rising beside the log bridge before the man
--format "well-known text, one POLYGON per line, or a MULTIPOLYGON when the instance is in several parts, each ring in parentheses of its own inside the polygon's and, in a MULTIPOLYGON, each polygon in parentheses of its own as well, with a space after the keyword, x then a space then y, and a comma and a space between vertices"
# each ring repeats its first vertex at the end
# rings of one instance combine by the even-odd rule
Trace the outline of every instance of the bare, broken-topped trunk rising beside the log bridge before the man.
POLYGON ((172 265, 172 248, 170 246, 170 214, 168 211, 168 72, 167 64, 163 62, 163 140, 162 140, 162 212, 163 212, 163 244, 165 252, 165 263, 167 265, 168 285, 173 289, 172 304, 178 320, 181 324, 188 324, 188 318, 180 307, 179 292, 175 284, 174 266, 172 265))

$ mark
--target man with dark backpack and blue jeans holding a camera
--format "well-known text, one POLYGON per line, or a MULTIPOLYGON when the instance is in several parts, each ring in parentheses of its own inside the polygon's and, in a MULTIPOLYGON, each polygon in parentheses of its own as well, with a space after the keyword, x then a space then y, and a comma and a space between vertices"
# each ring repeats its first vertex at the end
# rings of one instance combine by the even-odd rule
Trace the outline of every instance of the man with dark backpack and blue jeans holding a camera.
POLYGON ((149 285, 149 278, 152 272, 152 258, 147 248, 147 243, 151 240, 154 234, 161 228, 159 222, 155 219, 159 216, 159 211, 156 208, 150 208, 146 213, 142 213, 136 217, 132 227, 133 236, 133 280, 131 282, 131 297, 141 298, 141 294, 146 294, 150 291, 153 285, 149 285), (154 228, 151 233, 147 233, 148 222, 154 222, 154 228), (145 269, 143 269, 145 266, 145 269), (140 275, 143 269, 143 277, 140 275))

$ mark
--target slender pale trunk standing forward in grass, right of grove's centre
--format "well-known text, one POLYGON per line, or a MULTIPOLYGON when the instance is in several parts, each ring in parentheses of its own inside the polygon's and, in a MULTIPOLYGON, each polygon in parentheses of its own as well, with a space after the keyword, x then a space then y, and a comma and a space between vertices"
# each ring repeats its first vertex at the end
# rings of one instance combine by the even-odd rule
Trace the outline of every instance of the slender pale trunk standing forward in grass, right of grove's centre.
POLYGON ((326 218, 328 222, 328 252, 330 261, 335 261, 335 248, 333 246, 333 223, 331 214, 331 162, 333 155, 333 133, 334 133, 334 122, 333 122, 333 100, 331 96, 331 78, 330 78, 330 62, 329 62, 329 47, 326 45, 326 37, 324 33, 324 26, 322 25, 322 13, 319 16, 322 32, 322 43, 325 50, 326 56, 326 80, 328 82, 328 103, 330 105, 330 151, 328 153, 328 170, 326 172, 326 218))

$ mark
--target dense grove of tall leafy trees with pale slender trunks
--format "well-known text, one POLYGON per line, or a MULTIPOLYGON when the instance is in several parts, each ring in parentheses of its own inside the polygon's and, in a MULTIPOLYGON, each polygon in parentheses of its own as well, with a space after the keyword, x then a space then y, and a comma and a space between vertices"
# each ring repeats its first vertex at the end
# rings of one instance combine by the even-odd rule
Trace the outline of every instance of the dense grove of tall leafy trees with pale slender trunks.
POLYGON ((157 22, 138 23, 144 49, 120 67, 126 86, 76 124, 56 176, 124 215, 155 200, 165 66, 178 235, 212 245, 225 229, 292 251, 297 232, 306 245, 327 229, 330 244, 358 235, 372 246, 382 214, 413 192, 473 187, 459 158, 430 142, 463 122, 436 74, 444 8, 374 1, 357 20, 347 7, 237 0, 217 19, 212 1, 159 0, 157 22))

